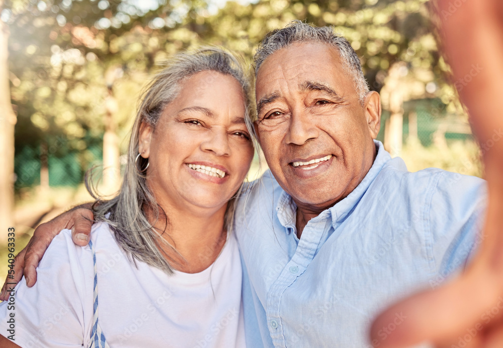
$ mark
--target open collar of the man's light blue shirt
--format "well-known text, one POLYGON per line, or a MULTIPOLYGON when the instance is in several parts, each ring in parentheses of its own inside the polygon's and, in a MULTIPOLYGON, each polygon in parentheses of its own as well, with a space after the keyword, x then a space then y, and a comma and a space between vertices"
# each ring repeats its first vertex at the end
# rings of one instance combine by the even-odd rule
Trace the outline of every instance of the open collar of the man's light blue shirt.
MULTIPOLYGON (((384 146, 381 142, 374 140, 374 144, 377 148, 377 156, 362 182, 346 198, 337 202, 327 210, 324 210, 320 213, 320 215, 312 220, 326 220, 331 218, 332 226, 335 228, 336 224, 344 220, 353 210, 354 206, 363 197, 377 174, 379 174, 384 164, 391 160, 391 155, 384 150, 384 146)), ((284 190, 282 190, 278 203, 276 204, 276 212, 278 213, 278 219, 281 225, 287 228, 287 233, 290 234, 294 231, 297 204, 295 204, 292 197, 284 190)))

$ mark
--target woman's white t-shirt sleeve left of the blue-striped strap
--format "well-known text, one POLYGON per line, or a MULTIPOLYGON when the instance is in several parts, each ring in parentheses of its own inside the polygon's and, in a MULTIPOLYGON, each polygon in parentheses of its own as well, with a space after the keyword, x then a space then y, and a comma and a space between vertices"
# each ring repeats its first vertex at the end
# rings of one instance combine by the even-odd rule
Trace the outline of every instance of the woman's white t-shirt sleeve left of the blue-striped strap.
POLYGON ((14 304, 12 298, 0 304, 0 334, 11 334, 7 321, 14 313, 14 342, 22 347, 87 346, 93 281, 91 249, 74 245, 71 232, 61 231, 37 268, 37 283, 28 288, 23 277, 16 286, 14 304))

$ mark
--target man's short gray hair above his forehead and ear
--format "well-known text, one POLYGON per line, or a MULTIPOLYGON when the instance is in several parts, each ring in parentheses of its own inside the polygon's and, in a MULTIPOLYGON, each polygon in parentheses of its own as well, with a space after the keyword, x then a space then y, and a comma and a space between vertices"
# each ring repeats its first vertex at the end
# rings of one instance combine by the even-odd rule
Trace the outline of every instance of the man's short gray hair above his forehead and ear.
POLYGON ((363 76, 362 65, 348 40, 334 33, 333 27, 315 27, 313 25, 295 20, 285 28, 271 31, 262 40, 254 55, 255 76, 268 56, 277 50, 293 43, 317 42, 336 47, 339 51, 345 69, 353 75, 355 89, 360 103, 363 105, 365 96, 369 93, 369 85, 363 76))

